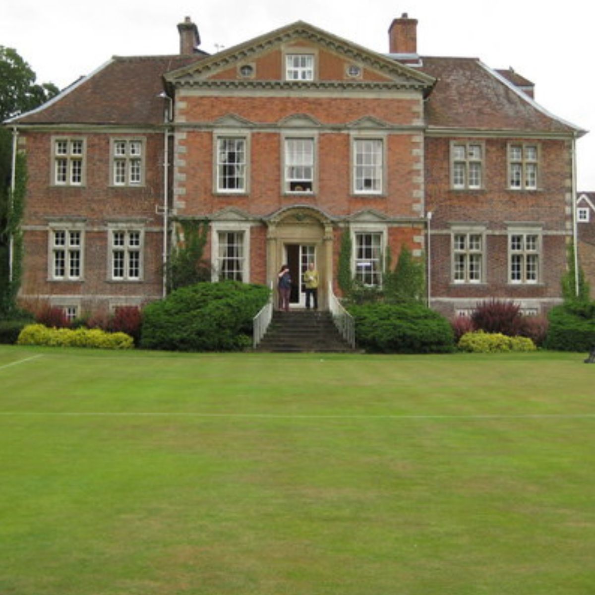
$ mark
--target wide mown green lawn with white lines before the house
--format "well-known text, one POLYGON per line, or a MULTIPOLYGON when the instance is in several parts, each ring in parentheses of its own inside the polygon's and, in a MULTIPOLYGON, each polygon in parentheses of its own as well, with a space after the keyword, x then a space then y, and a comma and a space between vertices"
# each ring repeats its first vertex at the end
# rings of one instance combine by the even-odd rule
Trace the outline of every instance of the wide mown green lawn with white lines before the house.
POLYGON ((0 346, 0 594, 591 594, 583 359, 0 346))

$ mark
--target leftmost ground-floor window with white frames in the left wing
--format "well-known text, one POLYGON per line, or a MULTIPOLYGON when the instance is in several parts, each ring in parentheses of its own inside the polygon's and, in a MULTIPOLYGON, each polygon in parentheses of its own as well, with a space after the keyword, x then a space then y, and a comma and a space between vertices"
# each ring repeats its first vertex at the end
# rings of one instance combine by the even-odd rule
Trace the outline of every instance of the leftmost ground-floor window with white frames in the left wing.
POLYGON ((49 230, 49 278, 52 281, 82 280, 83 250, 81 228, 52 227, 49 230))

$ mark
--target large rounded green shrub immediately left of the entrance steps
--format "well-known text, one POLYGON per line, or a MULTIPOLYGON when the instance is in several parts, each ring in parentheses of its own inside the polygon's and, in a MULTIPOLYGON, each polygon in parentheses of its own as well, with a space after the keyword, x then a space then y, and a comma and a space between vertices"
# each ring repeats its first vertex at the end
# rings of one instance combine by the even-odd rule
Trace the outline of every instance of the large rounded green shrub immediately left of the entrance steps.
POLYGON ((140 345, 176 351, 233 351, 252 345, 252 318, 267 303, 266 286, 198 283, 143 311, 140 345))

